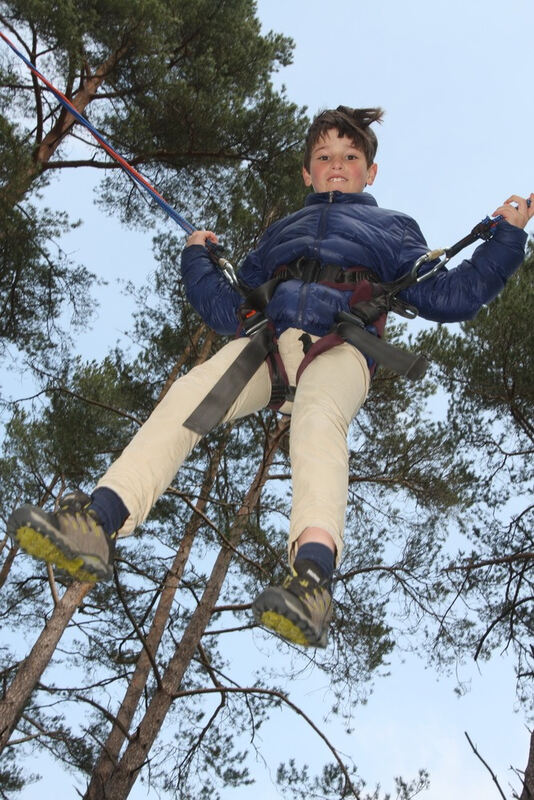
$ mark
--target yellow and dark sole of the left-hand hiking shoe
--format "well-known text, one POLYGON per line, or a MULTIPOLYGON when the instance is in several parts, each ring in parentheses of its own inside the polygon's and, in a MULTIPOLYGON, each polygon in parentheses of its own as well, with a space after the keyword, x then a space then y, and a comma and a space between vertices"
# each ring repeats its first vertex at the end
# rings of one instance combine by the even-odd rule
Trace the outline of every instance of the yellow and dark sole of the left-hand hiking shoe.
POLYGON ((12 514, 12 538, 28 553, 39 561, 45 561, 57 569, 67 572, 72 578, 82 583, 96 583, 109 580, 112 570, 100 558, 90 553, 74 553, 68 545, 55 535, 53 528, 45 528, 36 520, 29 521, 32 506, 25 506, 12 514))

